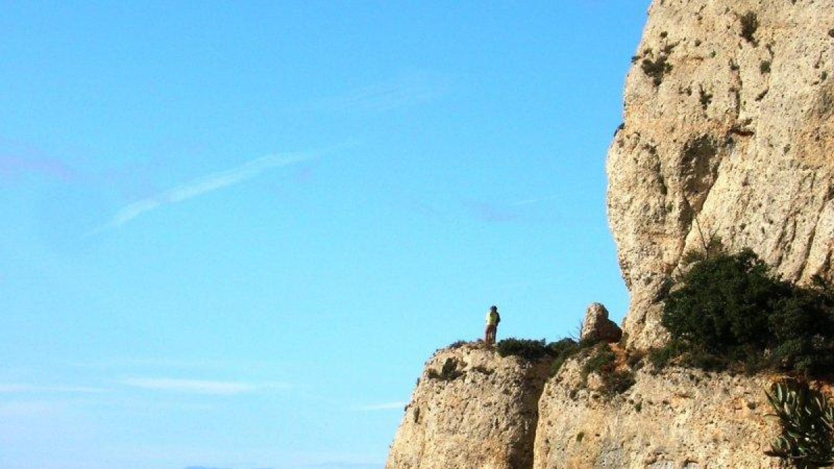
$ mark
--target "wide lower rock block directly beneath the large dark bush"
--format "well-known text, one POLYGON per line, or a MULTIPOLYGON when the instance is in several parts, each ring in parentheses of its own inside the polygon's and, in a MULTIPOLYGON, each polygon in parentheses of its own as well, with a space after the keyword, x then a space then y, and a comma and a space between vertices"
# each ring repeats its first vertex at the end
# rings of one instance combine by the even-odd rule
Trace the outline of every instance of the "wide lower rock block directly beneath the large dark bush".
POLYGON ((778 435, 764 378, 637 371, 611 397, 583 389, 579 371, 569 361, 545 386, 534 469, 784 467, 763 452, 778 435))

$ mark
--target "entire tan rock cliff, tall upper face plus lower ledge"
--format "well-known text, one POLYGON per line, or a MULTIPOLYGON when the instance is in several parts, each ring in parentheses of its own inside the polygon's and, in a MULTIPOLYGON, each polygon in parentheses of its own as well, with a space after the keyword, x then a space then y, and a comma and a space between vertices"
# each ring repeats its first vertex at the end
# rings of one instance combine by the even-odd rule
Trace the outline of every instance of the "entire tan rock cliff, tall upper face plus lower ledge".
MULTIPOLYGON (((787 280, 831 280, 834 0, 655 0, 624 101, 606 166, 631 293, 625 348, 604 345, 618 368, 666 340, 667 280, 712 237, 787 280)), ((769 378, 631 361, 634 384, 611 394, 588 360, 548 377, 546 360, 440 350, 386 468, 780 467, 763 454, 769 378)))

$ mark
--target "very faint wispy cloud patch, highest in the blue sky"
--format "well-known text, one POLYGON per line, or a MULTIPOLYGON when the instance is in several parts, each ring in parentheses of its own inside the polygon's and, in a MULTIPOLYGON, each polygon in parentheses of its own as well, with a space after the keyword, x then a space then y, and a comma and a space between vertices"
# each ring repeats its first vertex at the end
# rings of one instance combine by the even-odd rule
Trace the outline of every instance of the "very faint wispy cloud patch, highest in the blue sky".
POLYGON ((389 82, 319 99, 308 108, 332 111, 389 111, 438 98, 447 88, 446 80, 435 74, 404 74, 389 82))

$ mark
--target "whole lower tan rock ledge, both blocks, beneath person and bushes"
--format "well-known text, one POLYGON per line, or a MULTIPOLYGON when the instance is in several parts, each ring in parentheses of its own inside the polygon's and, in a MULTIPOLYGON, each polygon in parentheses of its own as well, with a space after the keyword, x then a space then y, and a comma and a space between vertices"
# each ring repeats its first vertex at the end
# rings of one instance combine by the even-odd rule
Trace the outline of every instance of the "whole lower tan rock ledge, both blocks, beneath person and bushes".
POLYGON ((778 434, 765 418, 770 378, 646 364, 617 394, 583 374, 603 346, 617 357, 606 372, 628 372, 617 345, 581 350, 550 378, 551 360, 502 358, 482 343, 438 350, 386 469, 782 467, 764 454, 778 434))

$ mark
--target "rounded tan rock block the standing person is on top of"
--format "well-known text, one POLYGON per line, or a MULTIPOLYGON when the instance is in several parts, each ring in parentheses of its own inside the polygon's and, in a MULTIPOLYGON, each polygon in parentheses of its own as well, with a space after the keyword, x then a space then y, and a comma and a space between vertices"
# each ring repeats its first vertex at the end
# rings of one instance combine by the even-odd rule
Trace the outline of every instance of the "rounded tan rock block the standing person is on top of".
POLYGON ((482 344, 439 350, 405 409, 386 469, 530 467, 549 370, 549 360, 502 358, 482 344))

